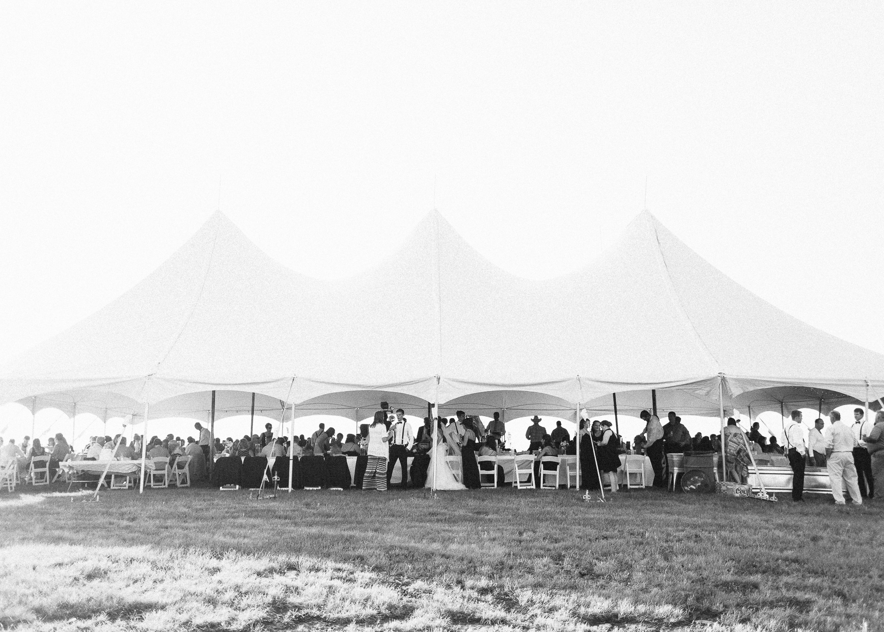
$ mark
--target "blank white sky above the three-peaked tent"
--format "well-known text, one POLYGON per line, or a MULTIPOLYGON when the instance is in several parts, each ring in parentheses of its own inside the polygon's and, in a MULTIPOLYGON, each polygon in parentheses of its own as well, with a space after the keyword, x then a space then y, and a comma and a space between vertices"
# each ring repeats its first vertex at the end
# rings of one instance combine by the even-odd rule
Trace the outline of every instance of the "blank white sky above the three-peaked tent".
POLYGON ((286 266, 339 277, 435 189, 538 278, 597 256, 645 179, 714 266, 884 352, 882 33, 871 2, 0 4, 0 362, 219 200, 286 266))

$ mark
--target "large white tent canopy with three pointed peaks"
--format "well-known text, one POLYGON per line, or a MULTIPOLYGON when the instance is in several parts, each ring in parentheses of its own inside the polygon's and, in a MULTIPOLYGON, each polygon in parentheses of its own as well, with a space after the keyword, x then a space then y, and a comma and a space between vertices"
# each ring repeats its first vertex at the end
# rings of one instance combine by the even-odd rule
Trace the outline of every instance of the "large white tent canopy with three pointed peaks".
POLYGON ((295 405, 385 391, 480 412, 497 403, 476 394, 519 391, 607 412, 616 392, 628 412, 676 389, 682 411, 712 413, 720 381, 728 403, 787 385, 884 397, 884 356, 755 297, 648 212, 604 258, 549 281, 492 266, 438 212, 380 266, 319 281, 216 213, 147 279, 0 371, 0 400, 187 409, 211 389, 295 405))

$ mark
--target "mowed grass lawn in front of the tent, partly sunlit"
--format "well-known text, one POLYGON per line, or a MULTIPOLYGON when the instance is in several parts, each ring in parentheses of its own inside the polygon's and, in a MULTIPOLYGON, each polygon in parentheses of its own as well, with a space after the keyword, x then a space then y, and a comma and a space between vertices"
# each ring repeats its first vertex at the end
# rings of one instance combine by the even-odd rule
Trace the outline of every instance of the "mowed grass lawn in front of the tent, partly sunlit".
POLYGON ((0 492, 6 629, 884 628, 874 503, 20 490, 0 492))

